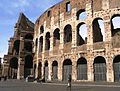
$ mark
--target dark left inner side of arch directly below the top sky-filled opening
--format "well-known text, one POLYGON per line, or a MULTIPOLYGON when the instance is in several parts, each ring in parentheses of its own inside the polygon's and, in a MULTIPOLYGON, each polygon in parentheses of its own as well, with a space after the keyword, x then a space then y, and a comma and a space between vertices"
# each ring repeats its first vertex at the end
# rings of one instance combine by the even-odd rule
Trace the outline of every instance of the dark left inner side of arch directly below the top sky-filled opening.
POLYGON ((80 26, 81 25, 83 25, 83 24, 85 24, 85 23, 79 23, 78 25, 77 25, 77 46, 79 46, 79 45, 82 45, 82 44, 85 44, 85 41, 84 41, 84 39, 81 37, 81 35, 79 34, 79 31, 80 31, 80 26))

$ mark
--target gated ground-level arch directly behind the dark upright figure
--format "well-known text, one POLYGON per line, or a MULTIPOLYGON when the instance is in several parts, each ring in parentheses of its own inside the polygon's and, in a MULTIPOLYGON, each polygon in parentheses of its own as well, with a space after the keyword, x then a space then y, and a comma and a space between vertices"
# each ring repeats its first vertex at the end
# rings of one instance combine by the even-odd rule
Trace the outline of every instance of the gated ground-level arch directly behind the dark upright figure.
POLYGON ((69 75, 72 75, 72 62, 70 59, 66 59, 63 62, 63 80, 67 81, 69 75))

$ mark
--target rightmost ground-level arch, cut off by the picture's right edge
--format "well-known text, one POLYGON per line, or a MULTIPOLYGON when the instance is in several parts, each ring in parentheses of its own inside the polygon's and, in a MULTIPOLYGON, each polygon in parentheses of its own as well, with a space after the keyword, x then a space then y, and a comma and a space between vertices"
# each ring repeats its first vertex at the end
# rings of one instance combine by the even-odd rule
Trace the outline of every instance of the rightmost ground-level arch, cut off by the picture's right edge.
POLYGON ((113 60, 114 81, 120 82, 120 55, 113 60))

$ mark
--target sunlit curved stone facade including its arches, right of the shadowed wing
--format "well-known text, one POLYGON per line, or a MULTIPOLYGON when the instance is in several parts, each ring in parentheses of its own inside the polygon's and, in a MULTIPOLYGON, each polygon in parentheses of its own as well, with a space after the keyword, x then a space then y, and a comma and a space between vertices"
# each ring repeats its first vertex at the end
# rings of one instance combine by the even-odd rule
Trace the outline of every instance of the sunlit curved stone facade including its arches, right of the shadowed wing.
MULTIPOLYGON (((115 77, 116 73, 113 65, 117 64, 114 62, 115 58, 119 60, 120 42, 118 42, 119 35, 116 38, 116 35, 112 35, 112 32, 115 31, 112 27, 112 19, 120 17, 119 14, 119 0, 64 0, 45 11, 35 23, 34 64, 36 64, 36 77, 41 72, 41 77, 45 77, 47 80, 65 80, 68 73, 72 75, 74 81, 118 81, 115 80, 118 78, 115 77), (67 8, 70 8, 70 11, 67 11, 67 8), (77 12, 83 10, 87 13, 87 18, 84 20, 77 19, 79 16, 77 12), (102 29, 100 29, 99 24, 96 24, 98 22, 96 20, 103 21, 104 33, 101 33, 102 29), (84 43, 78 45, 77 26, 80 23, 87 26, 87 40, 86 43, 84 41, 84 43), (41 32, 41 26, 44 27, 43 32, 41 32), (68 29, 65 28, 66 26, 68 29), (57 28, 59 29, 57 36, 60 35, 60 38, 56 38, 54 35, 57 28), (67 30, 66 33, 65 29, 67 30), (48 37, 46 37, 47 33, 49 33, 48 37), (40 42, 41 37, 42 43, 40 42), (54 39, 57 39, 57 42, 54 39), (54 45, 55 43, 56 45, 54 45), (49 46, 47 50, 46 45, 49 46), (42 50, 40 50, 41 47, 42 50), (84 79, 85 76, 82 77, 82 75, 85 75, 84 72, 78 71, 82 69, 82 66, 79 68, 79 63, 77 64, 80 58, 87 61, 86 63, 81 62, 81 65, 87 65, 86 79, 84 79), (71 61, 72 64, 69 62, 64 64, 66 60, 71 61), (57 61, 56 78, 53 76, 55 75, 54 65, 52 65, 54 61, 57 61), (41 63, 41 70, 38 70, 39 63, 41 63), (65 65, 69 72, 65 71, 65 65), (72 70, 69 69, 70 65, 72 70), (100 71, 101 66, 105 68, 102 71, 100 71)), ((119 32, 119 29, 117 32, 119 32)), ((117 62, 119 64, 119 61, 117 62)))

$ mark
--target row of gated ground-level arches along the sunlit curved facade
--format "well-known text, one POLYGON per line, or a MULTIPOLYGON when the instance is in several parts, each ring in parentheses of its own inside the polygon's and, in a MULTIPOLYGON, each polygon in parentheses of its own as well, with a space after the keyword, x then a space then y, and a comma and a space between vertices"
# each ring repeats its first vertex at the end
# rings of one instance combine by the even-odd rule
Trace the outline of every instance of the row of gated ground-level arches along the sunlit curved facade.
MULTIPOLYGON (((55 60, 52 63, 52 80, 58 79, 58 62, 55 60)), ((72 61, 70 59, 66 59, 63 62, 63 70, 62 70, 62 79, 63 81, 67 81, 68 75, 72 75, 72 61)), ((120 81, 120 55, 116 56, 113 60, 113 71, 114 71, 114 81, 120 81)), ((77 80, 88 80, 88 63, 84 57, 81 57, 76 62, 76 72, 77 72, 77 80)), ((48 79, 48 61, 44 63, 44 77, 48 79)), ((102 56, 98 56, 94 59, 93 62, 93 74, 94 81, 107 81, 107 65, 106 60, 102 56)))

